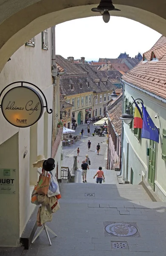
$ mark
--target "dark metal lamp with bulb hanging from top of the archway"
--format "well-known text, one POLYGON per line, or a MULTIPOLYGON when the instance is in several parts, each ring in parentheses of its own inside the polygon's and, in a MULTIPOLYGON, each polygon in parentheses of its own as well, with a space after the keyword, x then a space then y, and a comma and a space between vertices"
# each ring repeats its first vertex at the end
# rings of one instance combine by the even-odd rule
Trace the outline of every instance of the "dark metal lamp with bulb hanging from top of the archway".
POLYGON ((99 6, 97 8, 92 8, 92 12, 104 12, 103 20, 105 23, 109 22, 110 14, 109 11, 120 11, 119 9, 114 8, 111 0, 101 0, 99 6))

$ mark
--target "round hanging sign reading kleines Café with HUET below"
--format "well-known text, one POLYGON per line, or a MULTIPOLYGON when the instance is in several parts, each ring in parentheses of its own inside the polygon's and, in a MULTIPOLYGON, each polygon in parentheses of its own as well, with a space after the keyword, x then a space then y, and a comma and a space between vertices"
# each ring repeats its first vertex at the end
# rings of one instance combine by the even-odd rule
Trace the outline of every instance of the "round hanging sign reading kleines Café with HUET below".
POLYGON ((29 127, 42 116, 43 99, 31 87, 18 86, 5 94, 1 108, 3 116, 11 125, 29 127))

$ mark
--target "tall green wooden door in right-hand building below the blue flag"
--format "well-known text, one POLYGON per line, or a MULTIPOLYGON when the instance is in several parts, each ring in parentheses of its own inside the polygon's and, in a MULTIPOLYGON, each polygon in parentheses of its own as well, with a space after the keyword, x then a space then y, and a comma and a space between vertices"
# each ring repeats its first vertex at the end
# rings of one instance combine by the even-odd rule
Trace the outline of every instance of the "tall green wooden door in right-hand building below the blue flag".
POLYGON ((153 190, 155 189, 156 152, 157 143, 150 140, 148 182, 153 190))

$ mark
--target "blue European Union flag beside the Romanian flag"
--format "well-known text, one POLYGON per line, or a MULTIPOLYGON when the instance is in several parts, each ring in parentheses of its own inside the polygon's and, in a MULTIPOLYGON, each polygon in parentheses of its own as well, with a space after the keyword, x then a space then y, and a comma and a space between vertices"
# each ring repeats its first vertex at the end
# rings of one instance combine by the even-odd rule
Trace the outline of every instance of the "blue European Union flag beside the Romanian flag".
POLYGON ((143 127, 141 138, 146 138, 149 140, 154 140, 159 143, 159 132, 154 122, 149 116, 149 113, 146 111, 146 108, 142 104, 142 112, 143 112, 143 127))

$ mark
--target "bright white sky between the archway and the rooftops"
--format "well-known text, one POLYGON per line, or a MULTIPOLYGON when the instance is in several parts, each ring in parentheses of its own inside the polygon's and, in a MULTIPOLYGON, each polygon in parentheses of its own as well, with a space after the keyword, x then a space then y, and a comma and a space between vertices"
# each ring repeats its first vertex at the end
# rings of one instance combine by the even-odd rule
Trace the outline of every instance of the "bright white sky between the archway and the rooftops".
POLYGON ((155 30, 123 17, 88 17, 56 26, 56 54, 64 58, 85 57, 86 61, 117 58, 126 52, 130 57, 149 50, 160 38, 155 30))

